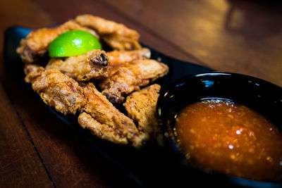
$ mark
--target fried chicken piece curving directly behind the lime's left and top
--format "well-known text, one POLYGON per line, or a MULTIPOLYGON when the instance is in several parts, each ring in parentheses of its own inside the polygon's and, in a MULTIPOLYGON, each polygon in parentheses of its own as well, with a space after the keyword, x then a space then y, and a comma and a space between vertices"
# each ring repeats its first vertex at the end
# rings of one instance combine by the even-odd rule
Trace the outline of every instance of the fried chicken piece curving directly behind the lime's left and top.
POLYGON ((44 56, 49 44, 56 37, 71 30, 84 30, 97 36, 94 30, 82 27, 78 23, 75 23, 75 21, 70 20, 58 27, 42 28, 30 32, 25 39, 20 40, 17 53, 20 54, 20 58, 23 59, 23 62, 34 63, 39 57, 44 56))

